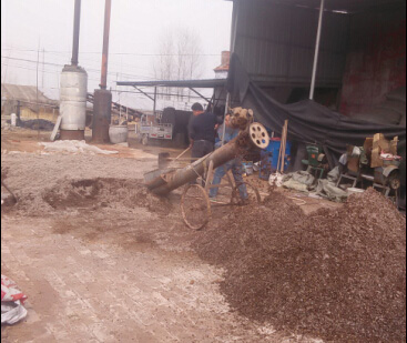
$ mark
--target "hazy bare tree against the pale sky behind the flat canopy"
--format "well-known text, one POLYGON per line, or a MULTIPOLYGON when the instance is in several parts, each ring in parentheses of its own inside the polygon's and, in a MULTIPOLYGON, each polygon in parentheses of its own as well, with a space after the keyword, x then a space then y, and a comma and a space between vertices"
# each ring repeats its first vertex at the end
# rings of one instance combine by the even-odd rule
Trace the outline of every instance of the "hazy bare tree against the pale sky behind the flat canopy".
MULTIPOLYGON (((201 39, 190 29, 166 30, 159 42, 157 51, 159 57, 153 64, 156 79, 191 80, 202 75, 201 39)), ((166 89, 165 92, 176 93, 177 100, 183 100, 185 95, 184 89, 166 89)), ((166 99, 170 100, 167 97, 166 99)))

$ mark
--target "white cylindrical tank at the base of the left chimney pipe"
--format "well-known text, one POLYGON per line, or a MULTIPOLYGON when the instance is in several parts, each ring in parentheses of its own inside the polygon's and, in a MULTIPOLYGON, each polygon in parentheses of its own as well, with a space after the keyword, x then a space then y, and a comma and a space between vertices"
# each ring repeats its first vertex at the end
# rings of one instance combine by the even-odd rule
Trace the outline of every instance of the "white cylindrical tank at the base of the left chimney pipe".
POLYGON ((61 130, 84 131, 87 122, 88 73, 77 65, 65 65, 61 73, 61 130))

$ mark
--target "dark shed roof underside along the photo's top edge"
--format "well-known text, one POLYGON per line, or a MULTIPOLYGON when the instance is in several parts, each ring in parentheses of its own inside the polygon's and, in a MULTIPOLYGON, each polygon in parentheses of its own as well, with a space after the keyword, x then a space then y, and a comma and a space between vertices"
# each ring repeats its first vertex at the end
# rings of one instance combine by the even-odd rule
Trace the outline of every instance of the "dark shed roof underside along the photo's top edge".
MULTIPOLYGON (((256 0, 230 0, 246 1, 250 3, 256 0)), ((308 8, 319 8, 320 0, 266 0, 269 3, 287 6, 301 6, 308 8)), ((330 11, 360 12, 374 9, 406 7, 406 0, 328 0, 325 2, 326 9, 330 11)))

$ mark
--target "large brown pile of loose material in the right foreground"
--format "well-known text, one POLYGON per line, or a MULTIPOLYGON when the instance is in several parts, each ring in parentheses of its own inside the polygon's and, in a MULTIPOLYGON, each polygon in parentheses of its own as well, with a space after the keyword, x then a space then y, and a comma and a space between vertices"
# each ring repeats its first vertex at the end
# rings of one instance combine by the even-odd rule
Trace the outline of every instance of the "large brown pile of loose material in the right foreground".
POLYGON ((406 219, 368 190, 305 216, 283 194, 194 243, 241 314, 334 342, 406 341, 406 219))

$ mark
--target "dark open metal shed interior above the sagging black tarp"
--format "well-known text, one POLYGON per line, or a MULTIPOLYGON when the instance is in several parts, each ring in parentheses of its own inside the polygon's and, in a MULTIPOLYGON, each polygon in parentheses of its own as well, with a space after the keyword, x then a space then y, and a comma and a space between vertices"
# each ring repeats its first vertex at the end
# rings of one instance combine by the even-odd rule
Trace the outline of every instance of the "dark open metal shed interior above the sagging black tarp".
MULTIPOLYGON (((400 75, 406 70, 405 0, 231 1, 232 51, 253 81, 264 88, 285 88, 285 100, 294 88, 311 88, 312 99, 314 87, 345 88, 344 95, 350 98, 353 92, 369 93, 369 99, 363 97, 364 103, 345 99, 345 105, 338 104, 352 112, 376 104, 387 92, 405 85, 400 75), (386 51, 389 40, 393 56, 372 52, 378 46, 386 51), (372 80, 374 73, 377 80, 372 80), (398 78, 397 82, 391 78, 398 78), (359 87, 355 89, 352 83, 356 79, 359 87), (373 89, 378 82, 379 91, 373 89)), ((282 98, 278 100, 284 101, 282 98)))

